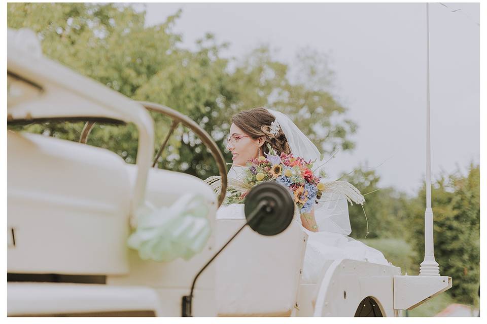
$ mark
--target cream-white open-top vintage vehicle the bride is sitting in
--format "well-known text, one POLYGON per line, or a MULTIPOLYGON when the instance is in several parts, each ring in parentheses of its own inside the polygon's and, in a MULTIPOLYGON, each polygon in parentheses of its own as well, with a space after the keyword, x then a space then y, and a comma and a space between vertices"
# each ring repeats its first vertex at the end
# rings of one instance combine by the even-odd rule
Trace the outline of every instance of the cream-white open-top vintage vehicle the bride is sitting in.
POLYGON ((202 180, 151 168, 148 109, 198 134, 226 186, 222 154, 194 121, 45 58, 28 30, 8 37, 8 123, 88 122, 82 143, 8 131, 8 316, 402 316, 451 287, 450 277, 350 259, 329 260, 319 281, 304 282, 307 236, 297 223, 271 236, 246 220, 216 220, 222 199, 202 180), (104 121, 137 127, 135 165, 83 143, 104 121), (163 210, 188 191, 208 208, 199 253, 156 262, 127 247, 145 204, 163 210))

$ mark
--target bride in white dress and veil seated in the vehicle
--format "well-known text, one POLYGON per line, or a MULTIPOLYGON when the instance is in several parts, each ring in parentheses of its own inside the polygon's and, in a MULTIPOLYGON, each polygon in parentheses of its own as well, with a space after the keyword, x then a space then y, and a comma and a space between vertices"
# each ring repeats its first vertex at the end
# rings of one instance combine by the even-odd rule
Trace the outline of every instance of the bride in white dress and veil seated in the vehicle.
MULTIPOLYGON (((247 160, 266 156, 269 144, 278 153, 293 153, 323 167, 318 148, 285 114, 265 108, 254 108, 232 117, 226 148, 232 153, 229 179, 238 179, 247 160)), ((363 197, 361 196, 363 199, 363 197)), ((296 209, 296 213, 299 212, 296 209)), ((242 204, 222 206, 219 217, 245 218, 242 204)), ((347 200, 338 194, 323 194, 320 203, 309 214, 295 215, 308 234, 304 257, 303 279, 313 282, 322 275, 327 260, 355 259, 388 264, 381 252, 347 235, 351 233, 347 200)))

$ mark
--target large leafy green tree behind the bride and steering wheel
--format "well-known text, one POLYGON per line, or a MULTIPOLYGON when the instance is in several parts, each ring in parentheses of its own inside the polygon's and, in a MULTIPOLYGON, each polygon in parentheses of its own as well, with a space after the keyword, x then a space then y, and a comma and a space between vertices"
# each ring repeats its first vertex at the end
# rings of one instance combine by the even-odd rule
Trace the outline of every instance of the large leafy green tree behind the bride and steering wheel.
MULTIPOLYGON (((196 50, 181 49, 182 36, 172 31, 181 12, 146 27, 145 12, 120 4, 9 3, 7 8, 8 26, 38 33, 47 57, 130 98, 188 115, 212 135, 229 162, 224 138, 231 116, 257 106, 288 113, 324 153, 354 147, 349 136, 357 126, 350 119, 336 118, 343 117, 346 109, 326 91, 332 73, 323 54, 302 51, 300 78, 291 83, 289 67, 273 59, 266 47, 241 60, 222 58, 228 44, 205 34, 196 50), (339 121, 332 121, 332 115, 339 121)), ((151 114, 160 145, 170 121, 151 114)), ((83 123, 46 123, 21 129, 76 141, 82 127, 83 123)), ((108 148, 133 163, 137 132, 133 125, 97 125, 88 144, 108 148)), ((159 167, 202 178, 217 174, 211 154, 182 127, 169 140, 159 167)))

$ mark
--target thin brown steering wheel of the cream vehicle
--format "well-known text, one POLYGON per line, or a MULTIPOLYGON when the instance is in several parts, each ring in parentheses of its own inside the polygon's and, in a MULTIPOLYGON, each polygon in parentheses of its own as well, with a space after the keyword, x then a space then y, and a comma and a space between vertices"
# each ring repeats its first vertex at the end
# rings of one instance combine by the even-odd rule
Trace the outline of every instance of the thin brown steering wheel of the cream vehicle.
MULTIPOLYGON (((220 177, 222 179, 222 190, 220 192, 220 196, 218 197, 218 207, 220 207, 223 203, 223 200, 225 199, 225 192, 227 191, 227 185, 228 185, 227 168, 225 165, 225 159, 223 158, 222 152, 220 151, 220 149, 218 148, 217 144, 212 139, 212 137, 208 133, 206 133, 206 131, 203 130, 198 124, 196 124, 194 120, 180 113, 179 111, 176 111, 169 107, 159 105, 153 102, 137 101, 137 103, 141 104, 142 106, 144 106, 146 109, 150 111, 160 112, 163 115, 166 115, 172 119, 172 124, 171 124, 171 128, 169 129, 169 133, 167 133, 166 138, 162 142, 162 145, 159 148, 156 157, 154 158, 154 162, 152 164, 153 168, 156 166, 157 159, 161 156, 162 151, 164 150, 164 147, 166 146, 167 141, 169 140, 169 137, 172 135, 172 132, 176 129, 176 127, 180 123, 188 127, 196 135, 198 135, 198 137, 201 139, 203 144, 208 149, 210 149, 213 158, 217 163, 218 171, 220 172, 220 177)), ((94 121, 87 121, 87 123, 83 127, 83 131, 81 132, 80 143, 86 143, 86 141, 88 140, 88 135, 90 134, 90 131, 94 125, 95 125, 94 121)))

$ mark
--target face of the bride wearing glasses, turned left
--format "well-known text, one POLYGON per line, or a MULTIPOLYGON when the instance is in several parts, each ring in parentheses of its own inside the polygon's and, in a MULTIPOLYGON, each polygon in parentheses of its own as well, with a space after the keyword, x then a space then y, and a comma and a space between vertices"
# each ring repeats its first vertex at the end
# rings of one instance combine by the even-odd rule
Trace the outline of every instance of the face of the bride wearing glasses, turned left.
POLYGON ((243 133, 235 124, 230 126, 230 134, 227 138, 227 149, 232 152, 233 164, 245 166, 247 161, 259 156, 259 148, 264 144, 264 139, 253 139, 243 133))

